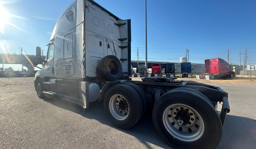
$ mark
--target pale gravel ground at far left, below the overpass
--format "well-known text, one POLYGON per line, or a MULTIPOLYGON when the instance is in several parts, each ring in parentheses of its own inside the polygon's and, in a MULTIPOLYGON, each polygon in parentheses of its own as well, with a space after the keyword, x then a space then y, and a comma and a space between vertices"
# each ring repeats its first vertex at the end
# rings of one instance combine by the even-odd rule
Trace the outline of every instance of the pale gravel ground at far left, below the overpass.
POLYGON ((11 86, 34 85, 34 79, 35 77, 0 78, 0 88, 11 86))

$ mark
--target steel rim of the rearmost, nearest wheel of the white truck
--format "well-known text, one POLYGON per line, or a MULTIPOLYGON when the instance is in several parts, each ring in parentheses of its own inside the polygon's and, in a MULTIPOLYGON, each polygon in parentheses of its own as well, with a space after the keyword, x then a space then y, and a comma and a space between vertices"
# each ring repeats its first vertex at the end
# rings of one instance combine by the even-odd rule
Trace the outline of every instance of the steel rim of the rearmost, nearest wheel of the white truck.
POLYGON ((183 104, 173 104, 171 106, 168 106, 163 113, 163 123, 166 130, 173 137, 186 142, 191 142, 199 139, 204 132, 204 123, 201 116, 192 107, 183 104), (178 109, 178 111, 176 109, 178 109), (186 111, 186 109, 188 109, 188 111, 186 111), (189 120, 191 124, 181 125, 183 124, 183 121, 181 121, 180 119, 176 120, 176 116, 178 115, 179 111, 180 113, 183 111, 186 111, 189 114, 192 113, 190 114, 189 120), (181 124, 179 124, 180 122, 181 124))

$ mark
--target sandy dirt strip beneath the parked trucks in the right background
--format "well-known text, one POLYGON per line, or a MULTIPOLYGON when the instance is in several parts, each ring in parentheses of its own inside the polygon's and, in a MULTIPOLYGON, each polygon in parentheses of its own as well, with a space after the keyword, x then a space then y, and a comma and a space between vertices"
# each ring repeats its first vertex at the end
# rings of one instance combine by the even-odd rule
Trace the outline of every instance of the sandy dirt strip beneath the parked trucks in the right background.
MULTIPOLYGON (((141 78, 132 78, 134 81, 141 81, 141 78)), ((226 78, 226 79, 216 79, 216 80, 205 80, 205 79, 200 79, 197 80, 196 77, 192 78, 179 78, 177 77, 177 80, 192 80, 196 81, 199 83, 219 83, 219 84, 256 84, 256 76, 251 76, 250 75, 237 75, 234 78, 226 78)))

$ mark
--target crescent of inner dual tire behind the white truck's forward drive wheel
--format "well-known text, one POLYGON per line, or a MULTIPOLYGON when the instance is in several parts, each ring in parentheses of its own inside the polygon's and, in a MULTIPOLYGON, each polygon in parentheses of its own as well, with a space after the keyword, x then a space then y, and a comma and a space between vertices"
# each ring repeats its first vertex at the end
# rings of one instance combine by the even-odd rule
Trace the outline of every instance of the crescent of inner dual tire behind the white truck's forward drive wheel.
POLYGON ((149 107, 149 101, 148 101, 148 97, 147 97, 146 93, 144 92, 144 90, 141 87, 139 87, 136 84, 128 83, 126 85, 131 86, 133 89, 135 89, 139 93, 139 95, 141 97, 141 101, 142 101, 142 106, 143 106, 141 117, 143 117, 145 115, 145 113, 147 112, 148 107, 149 107))

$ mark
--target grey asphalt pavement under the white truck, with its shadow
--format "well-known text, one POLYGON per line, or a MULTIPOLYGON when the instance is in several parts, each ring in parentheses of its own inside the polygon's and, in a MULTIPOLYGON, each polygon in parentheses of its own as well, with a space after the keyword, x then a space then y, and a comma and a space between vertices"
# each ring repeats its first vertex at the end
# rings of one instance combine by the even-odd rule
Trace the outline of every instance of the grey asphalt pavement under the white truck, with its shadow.
MULTIPOLYGON (((211 84, 229 93, 219 149, 256 146, 256 89, 211 84)), ((221 105, 218 105, 218 111, 221 105)), ((171 148, 156 132, 151 114, 123 130, 106 118, 103 102, 88 109, 64 100, 38 98, 33 85, 0 88, 0 148, 171 148)))

